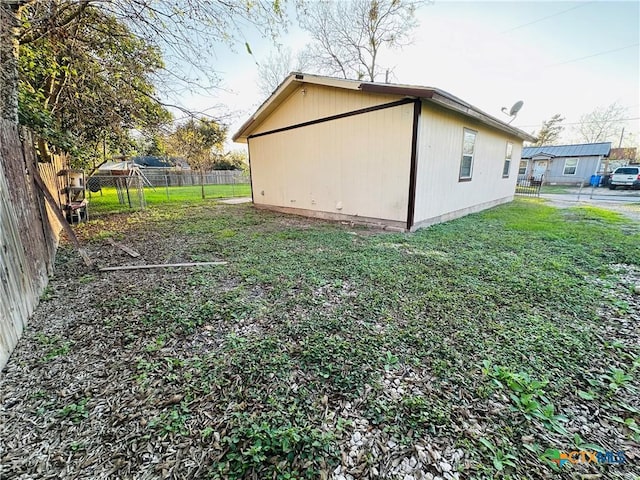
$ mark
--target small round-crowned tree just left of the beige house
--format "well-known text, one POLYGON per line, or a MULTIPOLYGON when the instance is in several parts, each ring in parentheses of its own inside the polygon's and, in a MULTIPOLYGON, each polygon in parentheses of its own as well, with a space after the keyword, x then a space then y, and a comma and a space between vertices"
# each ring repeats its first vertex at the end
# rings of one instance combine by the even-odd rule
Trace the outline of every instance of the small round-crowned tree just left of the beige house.
POLYGON ((200 172, 202 198, 204 194, 204 174, 211 170, 216 157, 222 152, 227 138, 227 127, 215 120, 190 119, 178 126, 167 139, 168 151, 184 157, 192 169, 200 172))

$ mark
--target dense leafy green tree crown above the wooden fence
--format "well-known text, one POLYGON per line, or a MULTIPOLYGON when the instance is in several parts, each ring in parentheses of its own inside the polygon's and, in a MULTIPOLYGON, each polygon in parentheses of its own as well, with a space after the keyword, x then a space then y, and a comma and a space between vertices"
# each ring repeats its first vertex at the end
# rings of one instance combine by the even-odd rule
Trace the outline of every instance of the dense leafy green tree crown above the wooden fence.
POLYGON ((20 123, 38 134, 44 160, 53 147, 86 163, 103 141, 129 145, 130 129, 170 119, 154 98, 152 75, 163 66, 159 50, 113 15, 85 8, 20 46, 20 123))

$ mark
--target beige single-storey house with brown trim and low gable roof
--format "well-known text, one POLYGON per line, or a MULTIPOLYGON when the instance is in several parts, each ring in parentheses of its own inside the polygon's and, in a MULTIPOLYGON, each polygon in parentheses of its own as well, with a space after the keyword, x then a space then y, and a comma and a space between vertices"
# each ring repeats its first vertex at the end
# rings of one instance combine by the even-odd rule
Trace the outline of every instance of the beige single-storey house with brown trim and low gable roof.
POLYGON ((415 230, 511 201, 535 139, 436 88, 293 73, 233 140, 256 207, 415 230))

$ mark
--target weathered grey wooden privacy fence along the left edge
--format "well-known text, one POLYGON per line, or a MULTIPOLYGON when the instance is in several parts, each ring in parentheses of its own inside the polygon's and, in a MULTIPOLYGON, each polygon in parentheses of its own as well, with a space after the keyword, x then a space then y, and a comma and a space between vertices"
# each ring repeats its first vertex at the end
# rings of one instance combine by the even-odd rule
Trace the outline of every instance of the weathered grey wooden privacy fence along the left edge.
POLYGON ((0 370, 47 285, 61 227, 34 172, 57 198, 56 172, 65 160, 39 164, 32 145, 28 132, 0 120, 0 370))

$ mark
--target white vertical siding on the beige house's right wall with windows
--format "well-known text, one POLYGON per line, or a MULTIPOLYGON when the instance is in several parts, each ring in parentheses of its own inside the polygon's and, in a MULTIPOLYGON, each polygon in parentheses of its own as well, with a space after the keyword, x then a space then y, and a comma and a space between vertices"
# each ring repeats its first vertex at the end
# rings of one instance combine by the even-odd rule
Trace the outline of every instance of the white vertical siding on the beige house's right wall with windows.
POLYGON ((418 137, 416 227, 513 200, 522 140, 423 102, 418 137), (477 132, 470 181, 459 181, 464 129, 477 132), (507 142, 513 144, 504 178, 507 142))

